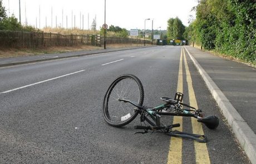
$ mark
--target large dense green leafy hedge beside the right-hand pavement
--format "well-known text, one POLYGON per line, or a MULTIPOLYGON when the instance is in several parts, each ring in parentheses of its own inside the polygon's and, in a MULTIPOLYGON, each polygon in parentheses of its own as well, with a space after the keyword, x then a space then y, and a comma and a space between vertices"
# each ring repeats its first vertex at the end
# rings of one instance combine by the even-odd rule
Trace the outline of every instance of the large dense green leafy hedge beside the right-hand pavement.
POLYGON ((230 58, 256 64, 256 1, 200 0, 184 38, 230 58))

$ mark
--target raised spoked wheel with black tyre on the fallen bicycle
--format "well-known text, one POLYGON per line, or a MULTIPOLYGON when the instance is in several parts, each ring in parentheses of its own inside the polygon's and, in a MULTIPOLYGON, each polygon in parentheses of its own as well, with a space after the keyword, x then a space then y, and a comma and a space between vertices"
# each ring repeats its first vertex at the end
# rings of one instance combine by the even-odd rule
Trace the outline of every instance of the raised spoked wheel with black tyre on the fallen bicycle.
POLYGON ((136 102, 142 106, 144 89, 140 79, 132 74, 123 74, 110 85, 104 97, 103 116, 111 126, 121 127, 130 123, 138 115, 137 107, 120 98, 136 102))

